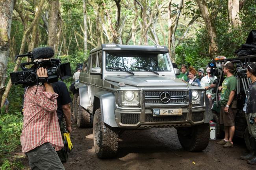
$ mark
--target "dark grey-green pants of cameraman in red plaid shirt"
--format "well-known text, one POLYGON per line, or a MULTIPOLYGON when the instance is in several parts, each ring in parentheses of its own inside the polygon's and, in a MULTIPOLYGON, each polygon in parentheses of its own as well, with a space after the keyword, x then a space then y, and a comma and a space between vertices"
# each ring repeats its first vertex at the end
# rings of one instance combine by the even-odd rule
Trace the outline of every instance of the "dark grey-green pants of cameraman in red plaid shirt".
POLYGON ((44 143, 29 152, 28 163, 31 170, 65 170, 52 144, 44 143))

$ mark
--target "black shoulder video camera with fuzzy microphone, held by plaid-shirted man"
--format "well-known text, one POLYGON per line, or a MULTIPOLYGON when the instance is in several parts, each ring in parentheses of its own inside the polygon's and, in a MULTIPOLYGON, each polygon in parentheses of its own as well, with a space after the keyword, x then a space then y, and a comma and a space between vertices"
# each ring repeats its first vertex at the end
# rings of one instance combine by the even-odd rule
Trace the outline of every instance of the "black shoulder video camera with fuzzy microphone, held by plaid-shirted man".
POLYGON ((22 87, 40 85, 44 82, 57 82, 71 77, 71 69, 69 62, 61 64, 60 59, 50 59, 54 56, 54 50, 51 47, 34 48, 32 52, 17 55, 18 57, 31 58, 32 62, 24 62, 20 64, 22 71, 12 72, 11 83, 22 84, 22 87), (30 68, 26 68, 30 66, 30 68), (43 67, 47 69, 48 77, 37 77, 37 69, 43 67))

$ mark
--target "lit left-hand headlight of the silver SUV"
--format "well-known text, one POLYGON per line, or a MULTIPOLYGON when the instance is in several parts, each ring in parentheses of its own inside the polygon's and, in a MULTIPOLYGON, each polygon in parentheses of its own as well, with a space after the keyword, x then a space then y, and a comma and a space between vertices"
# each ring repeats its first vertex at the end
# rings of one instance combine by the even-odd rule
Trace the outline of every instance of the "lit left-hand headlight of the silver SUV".
POLYGON ((138 107, 140 106, 140 91, 117 91, 117 103, 119 106, 131 106, 138 107))

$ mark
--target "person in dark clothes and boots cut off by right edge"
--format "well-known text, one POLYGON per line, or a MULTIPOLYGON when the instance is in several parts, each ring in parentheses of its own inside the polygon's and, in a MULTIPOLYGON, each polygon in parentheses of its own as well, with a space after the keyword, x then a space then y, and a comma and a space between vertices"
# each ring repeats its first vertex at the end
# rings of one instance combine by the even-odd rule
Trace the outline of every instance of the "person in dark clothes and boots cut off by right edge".
POLYGON ((243 160, 248 160, 247 163, 256 165, 256 64, 249 64, 247 67, 247 78, 252 80, 246 96, 245 118, 250 133, 250 153, 245 156, 240 156, 243 160))

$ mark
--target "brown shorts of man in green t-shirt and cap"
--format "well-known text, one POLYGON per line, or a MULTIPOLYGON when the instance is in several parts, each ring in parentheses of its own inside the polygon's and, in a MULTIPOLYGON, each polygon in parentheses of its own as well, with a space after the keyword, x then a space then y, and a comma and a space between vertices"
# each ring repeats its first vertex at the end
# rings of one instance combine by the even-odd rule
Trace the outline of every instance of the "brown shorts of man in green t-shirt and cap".
POLYGON ((235 117, 236 113, 234 113, 231 106, 228 108, 228 113, 224 111, 225 106, 221 106, 221 113, 219 116, 219 123, 224 124, 224 126, 235 126, 235 117))

